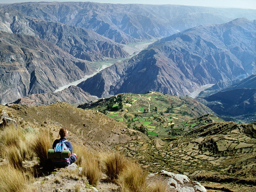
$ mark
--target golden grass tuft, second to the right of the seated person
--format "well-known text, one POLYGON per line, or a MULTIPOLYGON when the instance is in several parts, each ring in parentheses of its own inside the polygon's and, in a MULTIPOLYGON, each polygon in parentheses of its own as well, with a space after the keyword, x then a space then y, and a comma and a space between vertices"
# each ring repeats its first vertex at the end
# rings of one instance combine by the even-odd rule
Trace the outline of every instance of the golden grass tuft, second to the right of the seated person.
POLYGON ((128 160, 118 152, 106 156, 104 165, 108 180, 116 183, 120 173, 127 167, 127 164, 128 160))

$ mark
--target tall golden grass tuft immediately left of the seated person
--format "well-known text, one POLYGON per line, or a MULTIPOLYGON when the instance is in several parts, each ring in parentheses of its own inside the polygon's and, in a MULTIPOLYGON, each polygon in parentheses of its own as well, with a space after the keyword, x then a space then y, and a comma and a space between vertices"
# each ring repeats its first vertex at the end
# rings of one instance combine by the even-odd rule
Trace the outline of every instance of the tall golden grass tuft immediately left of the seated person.
POLYGON ((40 164, 45 165, 48 160, 48 149, 51 149, 50 132, 48 130, 39 132, 31 141, 30 147, 39 157, 40 164))

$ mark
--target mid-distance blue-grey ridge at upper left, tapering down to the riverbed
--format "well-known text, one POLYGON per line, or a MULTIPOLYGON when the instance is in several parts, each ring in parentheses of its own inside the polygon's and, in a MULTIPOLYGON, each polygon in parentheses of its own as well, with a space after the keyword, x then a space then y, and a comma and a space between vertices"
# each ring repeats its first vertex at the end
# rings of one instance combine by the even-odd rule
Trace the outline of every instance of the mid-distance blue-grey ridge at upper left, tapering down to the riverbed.
POLYGON ((50 41, 76 58, 99 60, 126 57, 122 45, 85 28, 24 17, 17 11, 0 12, 0 29, 50 41))

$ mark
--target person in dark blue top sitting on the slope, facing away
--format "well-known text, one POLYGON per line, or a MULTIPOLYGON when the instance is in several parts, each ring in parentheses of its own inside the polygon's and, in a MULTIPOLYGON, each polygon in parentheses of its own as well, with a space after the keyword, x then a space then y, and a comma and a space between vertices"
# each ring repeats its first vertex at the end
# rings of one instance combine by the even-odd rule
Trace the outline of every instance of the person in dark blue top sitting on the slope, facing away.
MULTIPOLYGON (((53 159, 52 162, 55 165, 63 165, 63 166, 67 166, 70 165, 72 163, 74 163, 77 159, 76 153, 72 153, 73 152, 73 147, 71 142, 67 141, 66 137, 67 137, 68 131, 65 128, 61 128, 59 131, 59 135, 61 136, 61 138, 56 139, 53 144, 52 144, 52 149, 55 150, 55 147, 58 143, 63 142, 65 144, 65 146, 67 147, 67 149, 70 151, 71 155, 69 158, 63 158, 63 159, 53 159)), ((66 149, 66 150, 67 150, 66 149)))

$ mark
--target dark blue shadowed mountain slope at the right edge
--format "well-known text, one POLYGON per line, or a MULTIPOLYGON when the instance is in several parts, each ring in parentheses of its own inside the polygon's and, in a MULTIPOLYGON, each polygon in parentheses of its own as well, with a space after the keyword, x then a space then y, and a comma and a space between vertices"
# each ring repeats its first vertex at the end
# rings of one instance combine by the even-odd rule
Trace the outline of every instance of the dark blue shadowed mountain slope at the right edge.
POLYGON ((207 101, 205 104, 220 116, 247 115, 248 121, 254 122, 256 118, 256 75, 249 76, 204 99, 207 101))

